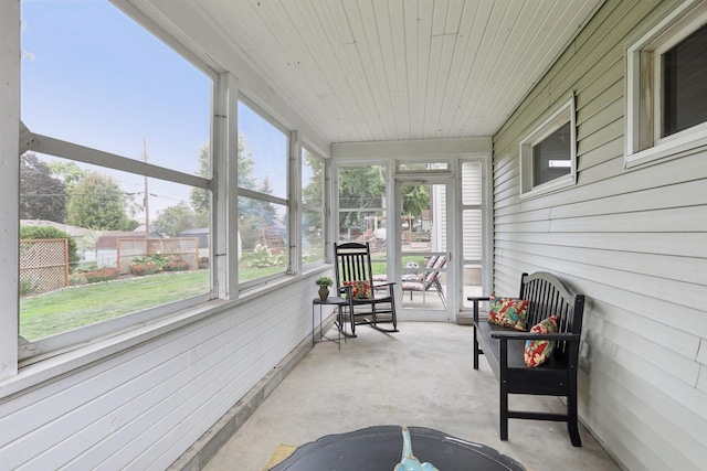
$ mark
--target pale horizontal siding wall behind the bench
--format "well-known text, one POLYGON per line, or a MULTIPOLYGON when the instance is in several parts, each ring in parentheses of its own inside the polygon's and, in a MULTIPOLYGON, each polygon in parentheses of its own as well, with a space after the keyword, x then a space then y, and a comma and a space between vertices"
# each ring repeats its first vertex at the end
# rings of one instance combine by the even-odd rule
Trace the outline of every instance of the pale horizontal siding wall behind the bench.
POLYGON ((625 49, 678 1, 608 0, 494 137, 494 285, 587 295, 580 416, 629 469, 707 459, 707 150, 624 169, 625 49), (519 141, 577 94, 578 182, 521 201, 519 141))

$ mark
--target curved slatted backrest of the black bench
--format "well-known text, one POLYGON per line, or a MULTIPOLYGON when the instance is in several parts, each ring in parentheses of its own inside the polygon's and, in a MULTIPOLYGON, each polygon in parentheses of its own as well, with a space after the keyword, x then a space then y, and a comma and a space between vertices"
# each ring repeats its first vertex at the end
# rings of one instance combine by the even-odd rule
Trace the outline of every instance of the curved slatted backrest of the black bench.
MULTIPOLYGON (((520 277, 520 298, 527 299, 527 325, 530 329, 550 315, 557 317, 558 332, 580 334, 582 332, 582 314, 584 296, 570 291, 555 275, 538 271, 520 277)), ((574 345, 579 346, 579 342, 574 345)), ((567 350, 567 342, 558 342, 556 354, 576 356, 567 350)))

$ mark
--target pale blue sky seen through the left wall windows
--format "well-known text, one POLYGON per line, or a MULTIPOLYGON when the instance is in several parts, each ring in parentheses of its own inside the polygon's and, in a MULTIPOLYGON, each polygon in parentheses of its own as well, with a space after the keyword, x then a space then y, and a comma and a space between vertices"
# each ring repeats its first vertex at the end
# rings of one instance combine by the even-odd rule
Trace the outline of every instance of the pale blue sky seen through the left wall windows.
MULTIPOLYGON (((107 0, 23 0, 22 23, 21 117, 31 131, 136 160, 145 141, 150 163, 197 173, 210 138, 209 76, 107 0)), ((286 138, 239 108, 256 162, 285 154, 286 138)), ((143 176, 93 170, 117 176, 126 193, 144 190, 143 176)), ((257 163, 254 176, 265 175, 286 197, 285 165, 257 163)), ((189 202, 189 191, 150 179, 150 217, 189 202)))

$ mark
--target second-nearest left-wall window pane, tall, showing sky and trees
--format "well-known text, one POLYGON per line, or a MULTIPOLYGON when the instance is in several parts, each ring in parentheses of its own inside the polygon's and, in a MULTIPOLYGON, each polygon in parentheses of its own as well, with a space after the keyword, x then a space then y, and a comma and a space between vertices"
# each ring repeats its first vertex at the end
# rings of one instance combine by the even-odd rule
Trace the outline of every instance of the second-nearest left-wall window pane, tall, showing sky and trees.
POLYGON ((239 282, 285 275, 288 267, 288 137, 239 101, 239 282))

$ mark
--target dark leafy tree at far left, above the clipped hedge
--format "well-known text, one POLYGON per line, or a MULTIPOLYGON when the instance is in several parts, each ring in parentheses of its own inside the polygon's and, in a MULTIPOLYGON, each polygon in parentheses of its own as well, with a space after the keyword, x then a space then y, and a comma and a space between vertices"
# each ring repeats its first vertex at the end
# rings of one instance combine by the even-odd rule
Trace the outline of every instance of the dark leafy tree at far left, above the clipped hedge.
POLYGON ((66 220, 66 190, 64 182, 53 178, 50 167, 34 153, 20 158, 20 218, 46 220, 63 223, 66 220))

